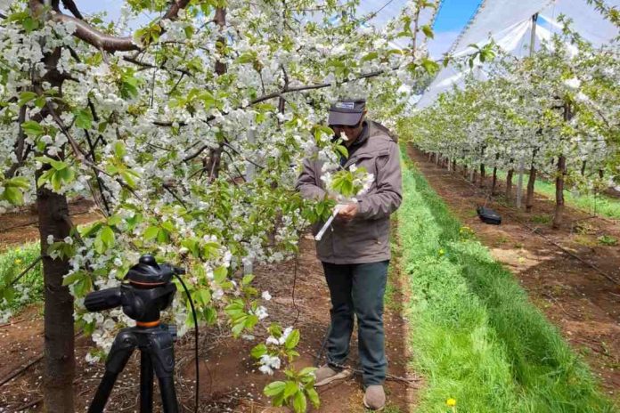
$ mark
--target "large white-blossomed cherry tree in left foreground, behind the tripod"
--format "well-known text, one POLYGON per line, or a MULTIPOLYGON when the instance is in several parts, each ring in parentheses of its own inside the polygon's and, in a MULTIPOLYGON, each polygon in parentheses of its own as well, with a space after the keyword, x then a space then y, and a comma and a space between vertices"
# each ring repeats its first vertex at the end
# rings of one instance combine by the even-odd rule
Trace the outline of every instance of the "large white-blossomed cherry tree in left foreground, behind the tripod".
MULTIPOLYGON (((265 373, 286 369, 265 388, 274 404, 318 403, 312 368, 290 367, 298 330, 269 321, 270 295, 243 267, 290 256, 330 214, 333 201, 292 189, 301 158, 325 160, 337 192, 364 181, 336 167, 346 150, 323 125, 330 102, 367 96, 395 125, 437 68, 419 36, 432 36, 419 19, 435 3, 412 0, 383 30, 363 27, 372 15, 357 4, 128 0, 106 22, 73 0, 0 2, 0 209, 37 204, 46 411, 73 410, 74 322, 103 350, 132 323, 86 312, 84 296, 117 286, 145 252, 187 269, 200 322, 267 331, 252 355, 265 373), (411 47, 392 44, 402 37, 411 47), (101 219, 77 228, 68 199, 79 194, 101 219)), ((181 333, 192 325, 186 296, 171 317, 181 333)))

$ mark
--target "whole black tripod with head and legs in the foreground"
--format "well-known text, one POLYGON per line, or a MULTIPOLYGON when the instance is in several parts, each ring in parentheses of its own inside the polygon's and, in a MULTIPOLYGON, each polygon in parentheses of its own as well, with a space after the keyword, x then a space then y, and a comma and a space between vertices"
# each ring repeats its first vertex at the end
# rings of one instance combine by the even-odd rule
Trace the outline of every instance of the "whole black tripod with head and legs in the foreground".
POLYGON ((159 265, 152 255, 143 255, 127 272, 120 287, 86 296, 84 304, 89 312, 122 306, 123 312, 136 323, 136 327, 120 330, 114 339, 105 361, 105 374, 88 413, 102 413, 118 375, 136 347, 140 350, 140 412, 152 412, 154 371, 164 413, 178 413, 174 377, 176 327, 159 324, 159 312, 172 304, 176 287, 171 279, 182 273, 182 269, 169 264, 159 265))

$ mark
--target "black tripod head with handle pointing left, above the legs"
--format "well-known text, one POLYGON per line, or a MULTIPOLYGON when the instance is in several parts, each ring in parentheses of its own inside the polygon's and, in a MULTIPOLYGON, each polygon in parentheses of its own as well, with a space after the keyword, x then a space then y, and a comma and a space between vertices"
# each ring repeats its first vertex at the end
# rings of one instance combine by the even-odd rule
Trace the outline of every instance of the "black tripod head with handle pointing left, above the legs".
POLYGON ((175 296, 172 282, 175 274, 185 271, 168 263, 158 264, 152 255, 143 255, 139 263, 127 271, 120 287, 106 288, 86 296, 89 312, 101 312, 122 306, 123 312, 136 321, 138 327, 159 325, 159 312, 165 310, 175 296))

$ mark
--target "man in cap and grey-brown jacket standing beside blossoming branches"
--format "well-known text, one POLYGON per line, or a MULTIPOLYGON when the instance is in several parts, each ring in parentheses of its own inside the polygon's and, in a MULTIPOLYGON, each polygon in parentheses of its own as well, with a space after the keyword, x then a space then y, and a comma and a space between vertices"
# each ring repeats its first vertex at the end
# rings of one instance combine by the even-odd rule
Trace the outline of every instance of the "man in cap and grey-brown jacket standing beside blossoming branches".
MULTIPOLYGON (((358 325, 358 349, 368 409, 385 407, 383 383, 387 360, 383 334, 383 296, 390 259, 389 215, 400 206, 402 182, 396 139, 387 128, 365 119, 366 101, 346 99, 330 107, 329 125, 336 137, 345 134, 348 158, 340 165, 363 166, 374 182, 357 203, 339 210, 331 228, 316 243, 330 287, 331 326, 327 339, 328 364, 316 371, 316 386, 349 377, 344 368, 358 325)), ((305 159, 297 189, 304 198, 327 196, 321 180, 321 162, 305 159)), ((320 226, 319 226, 320 227, 320 226)))

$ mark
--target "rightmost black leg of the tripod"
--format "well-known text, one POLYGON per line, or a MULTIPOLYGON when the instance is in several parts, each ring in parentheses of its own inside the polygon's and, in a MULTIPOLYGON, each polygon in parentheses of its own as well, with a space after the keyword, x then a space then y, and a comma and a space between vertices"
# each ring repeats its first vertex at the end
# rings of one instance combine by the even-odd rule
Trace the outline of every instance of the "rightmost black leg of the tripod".
POLYGON ((149 355, 155 374, 159 379, 159 393, 164 413, 178 413, 175 393, 175 348, 172 336, 166 330, 159 330, 150 337, 149 355))

